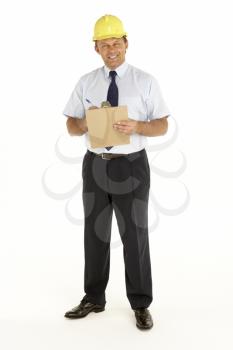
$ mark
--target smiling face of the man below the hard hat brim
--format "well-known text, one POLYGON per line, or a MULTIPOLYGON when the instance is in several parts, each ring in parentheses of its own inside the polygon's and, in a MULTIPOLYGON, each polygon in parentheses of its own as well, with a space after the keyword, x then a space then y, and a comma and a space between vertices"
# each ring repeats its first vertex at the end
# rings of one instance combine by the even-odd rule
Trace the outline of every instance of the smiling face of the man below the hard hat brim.
POLYGON ((114 70, 125 61, 125 53, 128 48, 128 41, 124 38, 110 38, 97 40, 95 50, 102 57, 105 65, 114 70))

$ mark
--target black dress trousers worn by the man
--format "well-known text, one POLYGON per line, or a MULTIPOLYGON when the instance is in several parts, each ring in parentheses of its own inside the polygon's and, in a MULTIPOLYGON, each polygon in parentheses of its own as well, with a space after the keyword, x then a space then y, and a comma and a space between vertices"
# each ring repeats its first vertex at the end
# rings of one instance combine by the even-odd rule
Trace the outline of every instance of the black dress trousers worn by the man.
POLYGON ((109 279, 113 210, 123 244, 125 283, 131 308, 152 302, 148 237, 150 167, 145 149, 106 160, 87 150, 82 164, 84 291, 105 305, 109 279))

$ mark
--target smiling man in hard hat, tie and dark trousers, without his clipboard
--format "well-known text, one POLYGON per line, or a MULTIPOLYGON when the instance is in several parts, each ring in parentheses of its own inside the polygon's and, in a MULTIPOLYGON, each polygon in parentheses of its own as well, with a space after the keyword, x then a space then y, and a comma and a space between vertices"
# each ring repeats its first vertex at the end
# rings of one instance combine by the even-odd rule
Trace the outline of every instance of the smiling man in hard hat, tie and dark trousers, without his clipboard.
POLYGON ((150 167, 145 151, 147 136, 167 132, 168 108, 154 77, 125 61, 127 33, 115 16, 105 15, 95 24, 95 51, 104 67, 81 77, 63 112, 70 135, 86 137, 82 164, 85 214, 85 296, 65 317, 81 318, 105 310, 109 278, 113 210, 123 244, 127 297, 139 329, 150 329, 152 277, 148 238, 150 167), (85 110, 127 105, 128 120, 113 125, 130 135, 130 144, 91 148, 85 110))

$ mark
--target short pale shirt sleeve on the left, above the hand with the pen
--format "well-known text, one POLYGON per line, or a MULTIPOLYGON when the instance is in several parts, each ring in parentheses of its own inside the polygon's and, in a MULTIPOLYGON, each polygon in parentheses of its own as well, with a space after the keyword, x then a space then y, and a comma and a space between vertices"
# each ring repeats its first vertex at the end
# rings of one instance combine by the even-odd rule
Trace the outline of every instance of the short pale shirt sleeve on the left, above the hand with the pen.
POLYGON ((85 116, 85 109, 82 102, 82 82, 81 79, 76 84, 64 110, 66 117, 74 117, 82 119, 85 116))

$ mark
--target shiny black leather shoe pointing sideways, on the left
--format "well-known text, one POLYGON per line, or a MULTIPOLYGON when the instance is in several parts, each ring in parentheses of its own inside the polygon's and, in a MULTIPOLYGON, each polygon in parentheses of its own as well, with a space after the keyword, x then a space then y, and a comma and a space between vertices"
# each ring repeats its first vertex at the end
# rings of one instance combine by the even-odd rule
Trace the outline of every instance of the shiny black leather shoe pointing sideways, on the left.
POLYGON ((82 318, 87 316, 90 312, 101 312, 104 310, 105 307, 103 305, 92 304, 84 297, 78 306, 67 311, 64 316, 67 318, 82 318))

